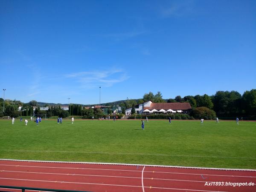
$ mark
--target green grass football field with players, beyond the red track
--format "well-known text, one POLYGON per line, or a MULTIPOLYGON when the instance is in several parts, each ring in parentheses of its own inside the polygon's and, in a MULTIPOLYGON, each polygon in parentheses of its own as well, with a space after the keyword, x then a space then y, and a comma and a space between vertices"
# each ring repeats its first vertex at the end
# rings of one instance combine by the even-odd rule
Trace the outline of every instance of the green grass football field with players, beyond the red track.
POLYGON ((0 158, 256 169, 256 122, 0 120, 0 158))

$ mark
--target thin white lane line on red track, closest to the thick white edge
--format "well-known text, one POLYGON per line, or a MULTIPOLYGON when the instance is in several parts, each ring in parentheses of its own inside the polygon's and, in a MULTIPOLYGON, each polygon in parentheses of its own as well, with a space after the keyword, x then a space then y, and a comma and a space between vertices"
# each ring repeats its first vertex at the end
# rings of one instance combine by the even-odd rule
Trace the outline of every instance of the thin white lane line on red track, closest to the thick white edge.
MULTIPOLYGON (((0 164, 0 166, 15 166, 15 165, 5 165, 0 164)), ((36 168, 54 168, 54 169, 90 169, 90 170, 105 170, 105 171, 124 171, 124 172, 142 172, 137 170, 124 170, 124 169, 93 169, 93 168, 75 168, 75 167, 48 167, 48 166, 19 166, 19 167, 36 167, 36 168)), ((145 171, 151 173, 151 171, 145 171)), ((168 173, 168 174, 184 174, 184 175, 202 175, 200 173, 178 173, 178 172, 154 172, 154 173, 168 173)), ((241 176, 241 175, 211 175, 204 174, 209 176, 223 176, 223 177, 250 177, 253 178, 255 176, 241 176)))

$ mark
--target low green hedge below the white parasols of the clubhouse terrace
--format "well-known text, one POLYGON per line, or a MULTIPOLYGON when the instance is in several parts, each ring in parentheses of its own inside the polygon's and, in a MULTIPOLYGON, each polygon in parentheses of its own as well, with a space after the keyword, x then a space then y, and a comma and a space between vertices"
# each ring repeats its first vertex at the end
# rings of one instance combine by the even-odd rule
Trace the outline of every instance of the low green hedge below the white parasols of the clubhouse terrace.
POLYGON ((189 116, 187 114, 132 114, 129 116, 129 119, 146 119, 146 116, 148 119, 194 119, 194 117, 189 116))

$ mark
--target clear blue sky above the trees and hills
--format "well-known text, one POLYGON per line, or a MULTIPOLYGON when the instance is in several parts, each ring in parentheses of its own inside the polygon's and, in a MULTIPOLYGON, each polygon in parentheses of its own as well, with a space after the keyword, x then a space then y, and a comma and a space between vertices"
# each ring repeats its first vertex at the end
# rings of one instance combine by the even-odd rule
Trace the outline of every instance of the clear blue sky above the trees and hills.
POLYGON ((254 0, 0 0, 0 88, 96 104, 256 88, 254 0))

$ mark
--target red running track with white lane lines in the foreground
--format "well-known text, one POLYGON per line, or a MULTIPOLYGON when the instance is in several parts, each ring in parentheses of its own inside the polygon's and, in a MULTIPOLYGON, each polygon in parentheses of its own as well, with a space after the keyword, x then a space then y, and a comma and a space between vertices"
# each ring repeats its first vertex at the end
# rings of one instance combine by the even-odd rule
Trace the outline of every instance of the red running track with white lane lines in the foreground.
POLYGON ((256 192, 256 171, 0 160, 0 185, 92 192, 256 192), (224 186, 226 182, 255 185, 224 186))

